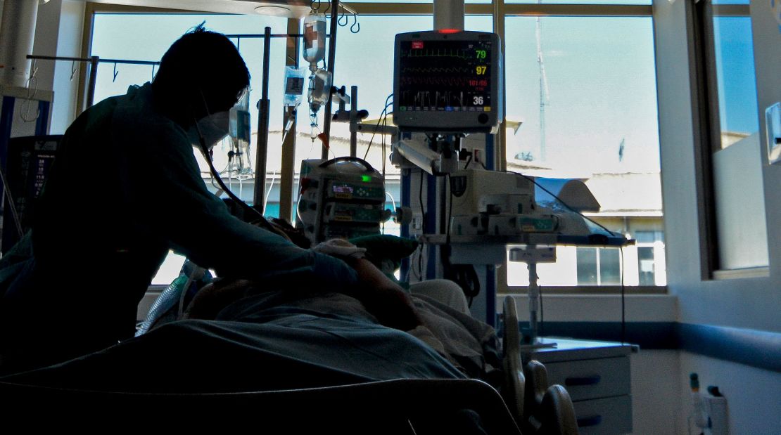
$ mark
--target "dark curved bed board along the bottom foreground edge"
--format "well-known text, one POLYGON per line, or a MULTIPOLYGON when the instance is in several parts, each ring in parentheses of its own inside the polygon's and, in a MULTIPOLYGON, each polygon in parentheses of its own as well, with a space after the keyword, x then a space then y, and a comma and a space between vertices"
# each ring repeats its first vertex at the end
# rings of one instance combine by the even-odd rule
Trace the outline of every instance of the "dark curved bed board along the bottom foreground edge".
POLYGON ((12 398, 4 400, 4 423, 34 409, 38 415, 64 417, 65 426, 90 426, 91 419, 112 416, 130 420, 131 426, 156 423, 158 428, 221 424, 276 428, 269 433, 415 433, 411 428, 420 419, 451 418, 467 408, 480 414, 487 433, 519 433, 499 394, 480 380, 388 380, 227 394, 130 394, 2 383, 0 394, 12 398), (172 413, 175 419, 159 422, 172 413))

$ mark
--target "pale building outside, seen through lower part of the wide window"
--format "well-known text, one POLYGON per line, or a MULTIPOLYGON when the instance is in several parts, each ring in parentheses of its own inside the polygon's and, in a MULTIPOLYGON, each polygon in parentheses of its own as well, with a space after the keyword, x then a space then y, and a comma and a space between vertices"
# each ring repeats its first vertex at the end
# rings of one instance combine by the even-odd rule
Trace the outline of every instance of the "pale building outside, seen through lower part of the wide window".
MULTIPOLYGON (((346 124, 332 124, 330 157, 349 154, 349 133, 346 124)), ((253 134, 255 136, 255 134, 253 134)), ((358 135, 358 155, 363 157, 369 147, 370 134, 358 135)), ((280 180, 282 161, 280 145, 282 133, 269 132, 269 150, 266 161, 266 215, 279 216, 280 180)), ((387 138, 386 138, 387 140, 387 138)), ((253 137, 252 143, 255 143, 253 137)), ((216 148, 219 150, 219 146, 216 148)), ((381 171, 386 161, 387 207, 393 208, 401 200, 401 173, 387 163, 391 144, 376 135, 369 148, 367 161, 381 171)), ((298 131, 296 159, 320 158, 321 143, 312 143, 308 131, 298 131), (309 145, 311 144, 311 145, 309 145)), ((217 155, 216 166, 226 167, 226 157, 217 155)), ((224 153, 226 154, 226 153, 224 153)), ((255 157, 251 157, 254 164, 255 157)), ((555 177, 555 170, 530 161, 508 161, 508 170, 533 176, 555 177)), ((252 200, 254 179, 235 179, 223 175, 226 183, 242 199, 252 200)), ((205 174, 207 184, 209 175, 205 174)), ((295 170, 294 189, 298 187, 298 168, 295 170)), ((595 173, 581 178, 601 204, 598 213, 587 213, 594 221, 613 232, 636 240, 633 246, 622 250, 616 248, 560 246, 557 249, 558 262, 540 264, 538 273, 542 285, 620 285, 623 267, 625 285, 666 285, 665 240, 662 212, 661 179, 658 172, 595 173), (622 255, 621 255, 622 254, 622 255)), ((289 217, 292 218, 293 217, 289 217)), ((399 227, 392 221, 385 225, 387 234, 398 234, 399 227)), ((508 285, 526 285, 528 272, 522 263, 508 264, 508 285)))

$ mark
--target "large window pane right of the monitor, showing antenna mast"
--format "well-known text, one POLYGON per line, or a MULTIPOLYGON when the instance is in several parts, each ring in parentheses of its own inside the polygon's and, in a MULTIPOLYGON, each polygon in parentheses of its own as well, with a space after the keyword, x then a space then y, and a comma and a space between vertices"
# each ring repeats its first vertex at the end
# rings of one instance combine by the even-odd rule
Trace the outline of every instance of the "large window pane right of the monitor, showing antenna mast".
MULTIPOLYGON (((583 179, 601 204, 587 216, 638 239, 559 246, 556 263, 537 267, 540 285, 665 285, 651 17, 511 16, 505 29, 507 118, 520 122, 507 130, 508 170, 583 179), (655 245, 640 242, 648 230, 655 245)), ((525 263, 506 273, 511 291, 528 283, 525 263)))

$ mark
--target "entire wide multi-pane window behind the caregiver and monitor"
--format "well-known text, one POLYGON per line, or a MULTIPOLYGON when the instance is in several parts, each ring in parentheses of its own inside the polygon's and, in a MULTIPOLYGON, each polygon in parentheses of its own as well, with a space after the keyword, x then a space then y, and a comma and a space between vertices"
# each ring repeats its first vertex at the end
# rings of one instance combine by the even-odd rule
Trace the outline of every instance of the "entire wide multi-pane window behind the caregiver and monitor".
MULTIPOLYGON (((494 7, 491 2, 468 0, 466 3, 467 13, 475 15, 466 16, 465 28, 492 30, 494 18, 490 14, 494 7)), ((641 232, 662 235, 650 2, 579 2, 588 7, 558 0, 505 3, 506 15, 501 17, 506 41, 505 107, 508 126, 515 126, 515 129, 506 130, 506 146, 505 142, 497 143, 505 146, 508 170, 536 176, 585 179, 602 204, 601 212, 590 214, 591 219, 638 241, 641 232), (530 15, 530 11, 539 15, 530 15)), ((409 10, 418 11, 415 14, 426 13, 424 9, 430 8, 430 2, 369 1, 353 6, 362 14, 358 18, 361 30, 359 34, 352 34, 348 31, 349 25, 339 28, 333 81, 338 87, 344 85, 348 91, 351 86, 357 86, 359 108, 368 110, 369 120, 376 122, 392 90, 394 34, 429 29, 432 25, 430 15, 410 15, 409 10)), ((103 8, 112 11, 111 7, 103 5, 92 7, 98 11, 103 8)), ((273 33, 286 34, 293 23, 267 16, 97 13, 91 53, 88 54, 102 58, 159 60, 171 41, 202 21, 206 21, 206 27, 225 34, 260 34, 266 26, 272 27, 273 33), (137 32, 141 28, 153 30, 137 32)), ((250 68, 251 87, 255 90, 251 98, 257 101, 262 77, 259 69, 262 40, 234 38, 234 41, 250 68)), ((275 89, 281 88, 284 59, 291 53, 286 51, 285 42, 284 38, 274 39, 270 54, 272 110, 266 214, 271 216, 279 216, 283 210, 295 210, 301 160, 321 157, 321 143, 319 139, 312 140, 312 136, 323 128, 323 109, 319 111, 317 125, 312 128, 308 108, 302 105, 293 141, 292 168, 283 173, 281 161, 291 151, 282 144, 283 121, 281 111, 276 110, 281 94, 275 89), (287 187, 283 189, 283 186, 288 178, 294 181, 291 192, 286 193, 287 187)), ((305 65, 302 58, 298 62, 305 65)), ((144 83, 151 78, 150 66, 117 65, 114 69, 113 65, 102 63, 95 100, 123 94, 130 84, 144 83)), ((252 125, 257 129, 257 110, 252 106, 254 104, 251 104, 252 125)), ((348 154, 347 124, 333 122, 331 135, 329 157, 348 154)), ((387 207, 393 208, 400 200, 401 175, 397 168, 384 164, 390 152, 390 137, 359 134, 358 155, 362 157, 367 150, 369 162, 386 175, 387 207)), ((224 166, 226 161, 219 158, 221 156, 216 158, 218 167, 219 164, 224 166)), ((205 166, 202 169, 205 171, 205 166)), ((208 175, 205 175, 205 181, 209 182, 208 175)), ((228 175, 226 182, 235 193, 251 201, 254 180, 228 175)), ((283 217, 294 218, 294 211, 291 214, 283 217)), ((399 228, 387 223, 385 231, 398 234, 399 228)), ((661 236, 654 242, 638 242, 637 246, 623 250, 563 246, 558 249, 558 263, 540 265, 540 284, 618 285, 623 276, 627 285, 664 285, 663 257, 661 236)), ((170 271, 177 273, 177 263, 171 264, 170 271)), ((507 271, 504 281, 511 288, 524 285, 528 278, 522 263, 509 263, 504 270, 507 271)), ((170 278, 173 277, 159 278, 157 282, 167 283, 170 278)))

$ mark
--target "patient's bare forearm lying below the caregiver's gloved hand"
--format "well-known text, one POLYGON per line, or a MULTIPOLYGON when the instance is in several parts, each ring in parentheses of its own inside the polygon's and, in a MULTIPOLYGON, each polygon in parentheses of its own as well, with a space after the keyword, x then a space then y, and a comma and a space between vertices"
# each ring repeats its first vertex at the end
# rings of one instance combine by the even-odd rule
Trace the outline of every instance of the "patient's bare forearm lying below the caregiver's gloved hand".
POLYGON ((380 320, 380 324, 401 331, 410 331, 423 324, 409 295, 374 264, 362 258, 352 261, 351 266, 358 272, 355 298, 380 320))

